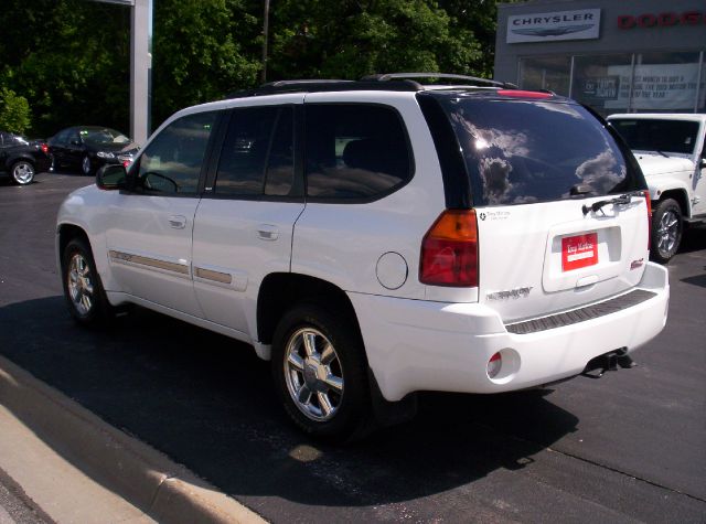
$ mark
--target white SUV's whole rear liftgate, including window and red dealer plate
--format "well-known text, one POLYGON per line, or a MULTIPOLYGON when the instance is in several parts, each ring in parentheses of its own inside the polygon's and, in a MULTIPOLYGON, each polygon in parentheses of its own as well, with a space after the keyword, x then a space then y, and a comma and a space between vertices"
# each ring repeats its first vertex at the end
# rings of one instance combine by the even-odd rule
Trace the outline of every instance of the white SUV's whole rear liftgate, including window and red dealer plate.
POLYGON ((477 210, 478 301, 513 323, 578 309, 640 281, 645 182, 603 122, 569 101, 488 95, 439 101, 477 210))

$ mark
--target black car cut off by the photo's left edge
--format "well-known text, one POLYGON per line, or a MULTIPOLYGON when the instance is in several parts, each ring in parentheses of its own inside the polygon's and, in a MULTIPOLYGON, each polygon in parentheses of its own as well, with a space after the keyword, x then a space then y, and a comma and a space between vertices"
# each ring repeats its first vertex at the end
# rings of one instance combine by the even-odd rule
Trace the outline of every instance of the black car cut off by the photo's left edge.
POLYGON ((42 140, 0 131, 0 172, 10 174, 18 185, 32 183, 38 172, 50 167, 47 147, 42 140))

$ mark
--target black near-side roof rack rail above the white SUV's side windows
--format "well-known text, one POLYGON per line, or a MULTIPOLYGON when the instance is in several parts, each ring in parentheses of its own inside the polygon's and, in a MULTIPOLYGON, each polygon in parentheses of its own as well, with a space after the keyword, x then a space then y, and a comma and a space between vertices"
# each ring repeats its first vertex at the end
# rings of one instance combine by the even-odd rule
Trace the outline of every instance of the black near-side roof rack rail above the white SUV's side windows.
POLYGON ((263 84, 253 89, 228 93, 225 98, 245 98, 249 96, 277 95, 282 93, 317 93, 340 90, 396 90, 418 92, 422 90, 416 82, 403 81, 389 84, 368 81, 336 81, 336 79, 300 79, 278 81, 263 84))

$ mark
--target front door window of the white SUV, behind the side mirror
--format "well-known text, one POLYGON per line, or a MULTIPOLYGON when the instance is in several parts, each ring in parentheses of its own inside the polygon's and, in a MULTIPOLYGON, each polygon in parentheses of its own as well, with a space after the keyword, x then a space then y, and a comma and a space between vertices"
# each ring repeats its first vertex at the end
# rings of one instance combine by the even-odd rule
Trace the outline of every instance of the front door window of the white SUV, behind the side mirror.
POLYGON ((216 113, 197 113, 174 120, 140 157, 136 189, 192 194, 199 188, 203 158, 216 113))

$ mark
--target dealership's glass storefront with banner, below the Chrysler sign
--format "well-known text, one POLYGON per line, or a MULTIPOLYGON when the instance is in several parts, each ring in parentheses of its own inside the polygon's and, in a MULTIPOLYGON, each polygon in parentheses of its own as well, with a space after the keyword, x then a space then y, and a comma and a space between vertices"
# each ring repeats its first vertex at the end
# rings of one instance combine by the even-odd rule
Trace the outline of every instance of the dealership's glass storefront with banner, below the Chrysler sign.
POLYGON ((520 87, 553 90, 603 116, 706 110, 703 52, 521 58, 520 87))

